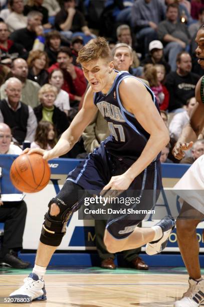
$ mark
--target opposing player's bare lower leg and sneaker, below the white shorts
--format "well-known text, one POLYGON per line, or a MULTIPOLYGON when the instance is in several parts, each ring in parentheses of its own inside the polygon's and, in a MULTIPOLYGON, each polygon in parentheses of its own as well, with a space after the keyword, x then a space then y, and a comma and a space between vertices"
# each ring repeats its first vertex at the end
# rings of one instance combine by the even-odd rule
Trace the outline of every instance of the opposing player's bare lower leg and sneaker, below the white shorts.
POLYGON ((175 307, 196 307, 204 299, 204 280, 201 278, 199 242, 196 235, 196 226, 203 218, 203 214, 184 202, 176 221, 178 246, 189 274, 189 288, 181 299, 174 303, 175 307))

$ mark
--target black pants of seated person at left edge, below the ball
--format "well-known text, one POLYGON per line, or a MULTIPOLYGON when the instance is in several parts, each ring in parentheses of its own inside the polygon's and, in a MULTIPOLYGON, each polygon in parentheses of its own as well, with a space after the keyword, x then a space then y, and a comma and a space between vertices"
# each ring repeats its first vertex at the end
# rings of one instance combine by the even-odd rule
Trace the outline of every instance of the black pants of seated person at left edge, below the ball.
POLYGON ((0 206, 0 222, 5 223, 0 258, 3 258, 10 249, 22 249, 26 214, 27 206, 25 201, 4 202, 4 205, 0 206))

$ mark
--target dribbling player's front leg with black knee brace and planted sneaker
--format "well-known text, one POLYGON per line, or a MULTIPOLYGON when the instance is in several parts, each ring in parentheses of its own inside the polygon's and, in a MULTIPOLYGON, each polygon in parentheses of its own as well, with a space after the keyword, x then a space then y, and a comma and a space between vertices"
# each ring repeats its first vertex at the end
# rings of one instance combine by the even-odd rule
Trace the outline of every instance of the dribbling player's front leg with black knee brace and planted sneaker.
POLYGON ((40 244, 33 273, 24 285, 10 294, 12 297, 31 297, 32 300, 45 300, 46 291, 43 276, 56 248, 66 233, 66 225, 72 213, 79 209, 85 191, 77 184, 66 181, 62 190, 49 203, 45 214, 40 244))

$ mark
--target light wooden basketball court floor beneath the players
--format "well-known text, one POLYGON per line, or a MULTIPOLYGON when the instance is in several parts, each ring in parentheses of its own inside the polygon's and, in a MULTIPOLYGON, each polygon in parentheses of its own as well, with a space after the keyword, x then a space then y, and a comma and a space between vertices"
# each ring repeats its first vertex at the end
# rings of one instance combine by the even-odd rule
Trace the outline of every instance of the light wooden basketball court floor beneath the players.
MULTIPOLYGON (((77 269, 76 269, 77 270, 77 269)), ((104 270, 103 270, 104 271, 104 270)), ((0 275, 0 296, 8 296, 28 275, 0 275)), ((47 301, 36 307, 166 307, 187 289, 187 274, 88 273, 45 276, 47 301)), ((11 306, 11 304, 0 304, 11 306)), ((18 304, 31 306, 31 303, 18 304)))

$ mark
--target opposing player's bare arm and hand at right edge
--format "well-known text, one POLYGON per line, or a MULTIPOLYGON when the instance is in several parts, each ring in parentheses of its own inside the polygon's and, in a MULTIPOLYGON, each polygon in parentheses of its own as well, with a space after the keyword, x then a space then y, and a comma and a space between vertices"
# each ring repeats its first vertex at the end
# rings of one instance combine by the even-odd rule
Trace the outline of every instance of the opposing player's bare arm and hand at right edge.
POLYGON ((195 88, 195 98, 197 102, 193 107, 190 121, 182 129, 181 135, 172 150, 174 157, 178 160, 184 157, 184 150, 192 147, 193 142, 197 139, 204 127, 204 103, 202 103, 200 97, 201 79, 202 78, 199 79, 195 88))

